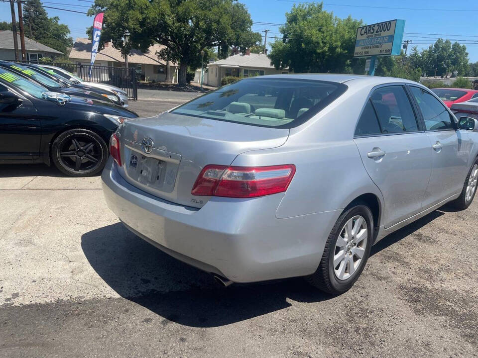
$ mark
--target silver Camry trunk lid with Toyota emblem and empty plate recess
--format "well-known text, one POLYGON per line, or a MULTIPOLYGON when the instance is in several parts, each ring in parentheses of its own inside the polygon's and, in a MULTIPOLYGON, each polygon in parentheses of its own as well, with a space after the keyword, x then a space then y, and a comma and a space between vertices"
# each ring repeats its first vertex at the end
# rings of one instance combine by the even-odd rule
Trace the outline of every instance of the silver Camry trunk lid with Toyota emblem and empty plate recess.
POLYGON ((191 189, 208 164, 230 165, 249 150, 281 146, 289 129, 266 128, 165 112, 137 118, 119 129, 121 176, 160 198, 202 207, 209 197, 191 189))

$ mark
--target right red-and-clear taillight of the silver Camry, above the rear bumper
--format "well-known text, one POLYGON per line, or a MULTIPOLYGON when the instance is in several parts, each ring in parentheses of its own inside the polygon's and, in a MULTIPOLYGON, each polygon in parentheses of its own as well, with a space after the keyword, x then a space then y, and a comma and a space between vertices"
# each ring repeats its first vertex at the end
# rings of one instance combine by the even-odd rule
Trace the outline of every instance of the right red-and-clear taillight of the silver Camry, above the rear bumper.
POLYGON ((204 167, 191 194, 249 198, 287 190, 295 174, 293 164, 269 167, 204 167))

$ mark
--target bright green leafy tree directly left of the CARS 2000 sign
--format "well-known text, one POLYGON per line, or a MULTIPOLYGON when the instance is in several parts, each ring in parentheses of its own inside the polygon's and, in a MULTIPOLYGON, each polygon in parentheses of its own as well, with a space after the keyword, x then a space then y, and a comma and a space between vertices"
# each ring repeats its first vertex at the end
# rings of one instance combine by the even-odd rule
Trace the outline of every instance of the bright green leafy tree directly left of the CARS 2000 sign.
POLYGON ((294 4, 285 16, 286 23, 279 28, 283 38, 272 43, 269 54, 276 69, 350 73, 364 64, 353 58, 361 20, 351 16, 340 19, 324 11, 322 3, 294 4))

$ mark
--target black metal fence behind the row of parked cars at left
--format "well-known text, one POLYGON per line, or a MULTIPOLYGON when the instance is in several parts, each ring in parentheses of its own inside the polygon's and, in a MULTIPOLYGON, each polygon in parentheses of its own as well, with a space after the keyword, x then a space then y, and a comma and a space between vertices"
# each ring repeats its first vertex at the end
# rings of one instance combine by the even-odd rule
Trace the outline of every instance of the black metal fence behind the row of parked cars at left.
MULTIPOLYGON (((31 62, 38 65, 36 61, 17 61, 17 62, 31 62)), ((135 68, 124 67, 110 67, 110 66, 90 66, 82 64, 61 63, 52 62, 45 63, 45 65, 51 65, 60 67, 68 72, 71 72, 75 76, 81 78, 86 82, 98 82, 106 85, 111 85, 124 90, 128 94, 129 99, 138 99, 138 86, 136 78, 135 68), (89 70, 91 68, 91 77, 89 70)))

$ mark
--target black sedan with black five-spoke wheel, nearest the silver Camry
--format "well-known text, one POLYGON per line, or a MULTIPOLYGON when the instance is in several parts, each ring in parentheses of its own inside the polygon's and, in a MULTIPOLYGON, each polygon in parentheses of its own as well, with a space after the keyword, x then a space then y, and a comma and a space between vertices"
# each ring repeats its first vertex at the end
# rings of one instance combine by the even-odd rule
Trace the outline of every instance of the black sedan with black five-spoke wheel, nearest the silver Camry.
POLYGON ((63 173, 101 172, 107 143, 137 114, 91 98, 51 92, 0 67, 0 163, 51 162, 63 173))

